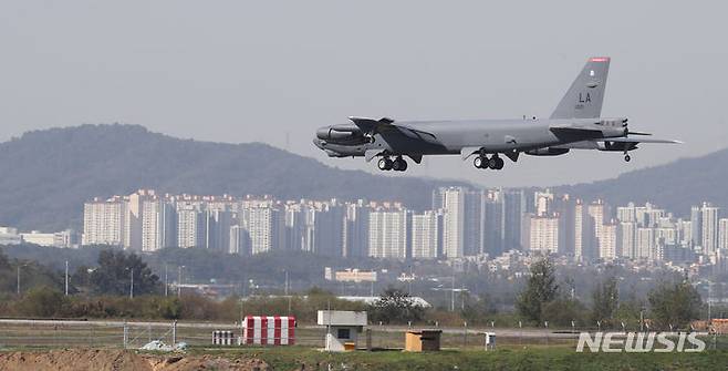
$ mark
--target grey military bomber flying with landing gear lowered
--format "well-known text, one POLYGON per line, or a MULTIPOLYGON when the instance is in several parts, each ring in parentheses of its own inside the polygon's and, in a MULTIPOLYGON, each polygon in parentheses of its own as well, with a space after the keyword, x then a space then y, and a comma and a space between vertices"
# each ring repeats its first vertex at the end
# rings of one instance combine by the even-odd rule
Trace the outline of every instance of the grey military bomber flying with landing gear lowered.
POLYGON ((349 124, 316 131, 313 143, 330 157, 381 157, 382 171, 407 169, 404 156, 419 164, 425 155, 475 155, 477 168, 503 168, 503 156, 512 162, 521 153, 558 156, 571 150, 624 153, 639 143, 680 143, 631 132, 626 117, 601 117, 610 58, 590 58, 549 118, 467 121, 394 121, 349 117, 349 124), (490 155, 490 156, 488 156, 490 155))

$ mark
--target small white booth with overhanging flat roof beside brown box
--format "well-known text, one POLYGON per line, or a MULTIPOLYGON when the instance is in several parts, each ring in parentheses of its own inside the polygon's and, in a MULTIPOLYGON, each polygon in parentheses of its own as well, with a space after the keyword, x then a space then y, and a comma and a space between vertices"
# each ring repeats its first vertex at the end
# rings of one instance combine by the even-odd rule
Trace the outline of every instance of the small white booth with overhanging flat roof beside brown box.
POLYGON ((356 349, 358 334, 366 326, 365 311, 319 310, 316 323, 326 327, 325 350, 342 352, 356 349))

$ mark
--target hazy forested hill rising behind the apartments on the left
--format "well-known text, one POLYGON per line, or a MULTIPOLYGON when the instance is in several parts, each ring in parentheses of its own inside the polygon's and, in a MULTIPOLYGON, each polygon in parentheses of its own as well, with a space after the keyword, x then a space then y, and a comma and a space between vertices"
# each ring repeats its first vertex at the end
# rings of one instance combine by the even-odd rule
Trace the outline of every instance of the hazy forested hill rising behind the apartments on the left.
MULTIPOLYGON (((136 125, 82 125, 0 143, 0 225, 81 227, 83 203, 138 188, 281 199, 402 200, 427 208, 445 182, 342 171, 260 143, 180 140, 136 125)), ((447 182, 453 184, 453 182, 447 182)))

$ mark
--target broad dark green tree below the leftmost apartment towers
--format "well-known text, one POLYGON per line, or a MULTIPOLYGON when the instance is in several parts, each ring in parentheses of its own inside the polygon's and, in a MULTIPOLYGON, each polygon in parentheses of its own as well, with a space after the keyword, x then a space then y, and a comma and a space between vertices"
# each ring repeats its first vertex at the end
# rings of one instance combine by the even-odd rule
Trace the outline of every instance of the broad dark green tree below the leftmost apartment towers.
POLYGON ((91 290, 103 295, 128 295, 134 272, 134 293, 158 292, 159 277, 152 274, 136 254, 106 249, 98 254, 98 267, 91 272, 91 290))

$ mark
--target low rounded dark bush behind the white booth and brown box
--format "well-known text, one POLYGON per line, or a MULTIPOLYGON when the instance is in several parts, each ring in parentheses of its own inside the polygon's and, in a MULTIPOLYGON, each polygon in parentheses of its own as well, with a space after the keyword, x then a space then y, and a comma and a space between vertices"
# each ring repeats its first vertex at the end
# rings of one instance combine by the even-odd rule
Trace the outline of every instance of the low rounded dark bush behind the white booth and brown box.
POLYGON ((407 323, 422 321, 425 308, 403 290, 389 287, 370 308, 372 321, 384 323, 407 323))

